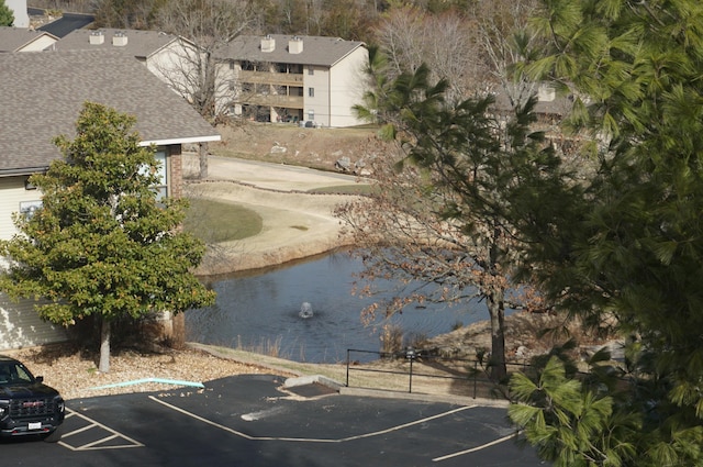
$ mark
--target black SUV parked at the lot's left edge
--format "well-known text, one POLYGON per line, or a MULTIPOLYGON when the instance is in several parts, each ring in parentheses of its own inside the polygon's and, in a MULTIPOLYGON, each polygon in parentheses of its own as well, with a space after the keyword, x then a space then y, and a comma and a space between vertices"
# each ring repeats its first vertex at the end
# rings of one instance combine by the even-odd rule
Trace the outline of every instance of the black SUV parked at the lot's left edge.
POLYGON ((14 358, 0 355, 0 436, 43 435, 60 440, 64 399, 14 358))

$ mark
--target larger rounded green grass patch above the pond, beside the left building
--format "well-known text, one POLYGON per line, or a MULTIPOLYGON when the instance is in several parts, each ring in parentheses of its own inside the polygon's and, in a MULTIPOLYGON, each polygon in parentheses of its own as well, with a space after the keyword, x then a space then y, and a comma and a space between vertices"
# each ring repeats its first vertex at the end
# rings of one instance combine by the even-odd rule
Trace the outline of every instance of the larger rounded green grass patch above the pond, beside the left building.
POLYGON ((190 198, 183 230, 207 244, 242 240, 258 234, 264 222, 250 209, 209 199, 190 198))

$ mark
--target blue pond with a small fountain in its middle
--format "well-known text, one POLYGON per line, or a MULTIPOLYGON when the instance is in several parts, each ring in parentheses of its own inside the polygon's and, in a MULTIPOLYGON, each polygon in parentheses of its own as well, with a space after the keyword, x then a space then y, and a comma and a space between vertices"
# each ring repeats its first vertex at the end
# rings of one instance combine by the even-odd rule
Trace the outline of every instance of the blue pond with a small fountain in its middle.
POLYGON ((414 336, 433 337, 450 332, 457 323, 487 319, 483 304, 427 303, 365 325, 361 310, 378 299, 352 293, 354 275, 361 269, 360 260, 336 253, 255 274, 217 277, 208 282, 217 292, 216 303, 186 312, 186 337, 297 362, 339 363, 346 360, 348 348, 380 351, 386 324, 402 330, 412 343, 414 336), (301 315, 303 303, 309 303, 309 318, 301 315))

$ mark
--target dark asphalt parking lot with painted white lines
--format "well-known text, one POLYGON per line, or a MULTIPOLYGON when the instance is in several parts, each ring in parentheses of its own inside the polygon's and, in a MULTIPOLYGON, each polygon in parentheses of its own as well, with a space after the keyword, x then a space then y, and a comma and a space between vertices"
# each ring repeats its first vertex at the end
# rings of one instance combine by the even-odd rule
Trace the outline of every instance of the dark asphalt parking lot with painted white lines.
POLYGON ((505 410, 280 390, 271 375, 72 400, 58 444, 5 442, 8 465, 538 466, 505 410))

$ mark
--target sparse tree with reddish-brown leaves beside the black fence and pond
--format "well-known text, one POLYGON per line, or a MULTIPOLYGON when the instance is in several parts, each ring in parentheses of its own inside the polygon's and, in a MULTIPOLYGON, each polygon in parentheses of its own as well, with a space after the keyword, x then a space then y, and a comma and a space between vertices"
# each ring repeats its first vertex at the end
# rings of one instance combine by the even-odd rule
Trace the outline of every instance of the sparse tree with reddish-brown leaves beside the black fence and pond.
POLYGON ((543 307, 533 289, 511 280, 511 262, 518 260, 515 238, 498 219, 448 218, 449 205, 468 210, 459 193, 436 171, 401 164, 406 154, 397 145, 373 141, 368 152, 373 154, 365 166, 373 175, 371 194, 339 207, 336 214, 365 264, 357 293, 373 296, 380 282, 395 283, 397 294, 364 310, 364 318, 390 316, 412 303, 468 307, 482 301, 491 322, 484 363, 500 380, 506 375, 505 310, 543 307))

